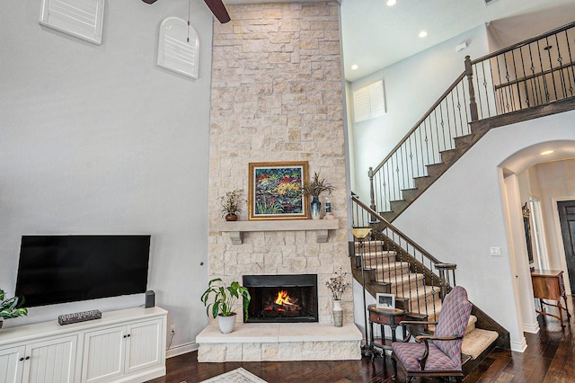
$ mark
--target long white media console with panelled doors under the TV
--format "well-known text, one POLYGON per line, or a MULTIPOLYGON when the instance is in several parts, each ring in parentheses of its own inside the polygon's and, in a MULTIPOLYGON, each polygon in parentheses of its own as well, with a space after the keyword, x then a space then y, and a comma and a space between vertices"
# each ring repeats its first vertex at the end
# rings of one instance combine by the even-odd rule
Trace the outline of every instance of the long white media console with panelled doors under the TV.
POLYGON ((165 375, 167 311, 102 313, 72 325, 57 320, 0 330, 0 381, 143 382, 165 375))

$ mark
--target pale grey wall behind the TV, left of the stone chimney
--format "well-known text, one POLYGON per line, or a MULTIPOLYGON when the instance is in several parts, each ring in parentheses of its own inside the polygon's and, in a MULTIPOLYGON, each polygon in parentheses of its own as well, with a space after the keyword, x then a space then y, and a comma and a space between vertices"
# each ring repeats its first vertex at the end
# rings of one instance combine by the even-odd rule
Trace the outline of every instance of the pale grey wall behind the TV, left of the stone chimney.
MULTIPOLYGON (((40 3, 2 4, 0 288, 13 295, 22 235, 150 234, 148 287, 177 326, 172 345, 191 343, 207 323, 211 13, 191 3, 191 80, 155 66, 159 24, 187 19, 187 0, 106 2, 101 46, 41 27, 40 3)), ((32 307, 5 325, 143 303, 32 307)))

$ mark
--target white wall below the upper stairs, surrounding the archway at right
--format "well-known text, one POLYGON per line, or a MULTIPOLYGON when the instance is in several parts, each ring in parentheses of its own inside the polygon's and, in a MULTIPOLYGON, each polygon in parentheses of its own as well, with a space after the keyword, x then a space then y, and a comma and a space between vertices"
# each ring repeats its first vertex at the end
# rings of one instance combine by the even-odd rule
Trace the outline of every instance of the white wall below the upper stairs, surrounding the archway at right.
MULTIPOLYGON (((570 111, 492 129, 394 221, 430 254, 457 264, 457 284, 468 290, 474 304, 509 330, 517 351, 525 338, 517 316, 520 302, 512 281, 517 270, 511 263, 515 254, 509 254, 509 208, 499 166, 539 142, 575 139, 573 118, 575 111, 570 111), (490 247, 500 247, 501 256, 491 256, 490 247)), ((509 205, 518 209, 521 222, 518 191, 515 202, 509 205)), ((523 262, 517 275, 519 286, 528 289, 526 257, 517 256, 517 260, 523 262)))

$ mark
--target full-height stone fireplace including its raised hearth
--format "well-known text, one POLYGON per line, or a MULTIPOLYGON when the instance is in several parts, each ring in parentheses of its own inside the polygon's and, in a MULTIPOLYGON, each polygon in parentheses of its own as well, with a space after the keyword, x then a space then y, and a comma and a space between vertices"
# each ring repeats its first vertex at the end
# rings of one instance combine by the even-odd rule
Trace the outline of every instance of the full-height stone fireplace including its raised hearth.
POLYGON ((340 267, 351 282, 340 4, 237 4, 227 9, 232 21, 214 23, 212 47, 208 279, 314 274, 317 297, 312 306, 317 305, 317 319, 243 323, 242 310, 236 310, 232 334, 220 334, 210 320, 197 336, 198 359, 359 359, 361 333, 354 324, 352 290, 342 297, 344 326, 334 327, 332 294, 325 287, 340 267), (330 226, 328 235, 323 227, 320 236, 296 220, 288 227, 282 220, 249 222, 244 203, 238 222, 253 229, 243 230, 241 236, 225 233, 218 197, 242 189, 248 199, 249 164, 262 161, 306 161, 310 174, 317 172, 332 183, 337 228, 330 226))

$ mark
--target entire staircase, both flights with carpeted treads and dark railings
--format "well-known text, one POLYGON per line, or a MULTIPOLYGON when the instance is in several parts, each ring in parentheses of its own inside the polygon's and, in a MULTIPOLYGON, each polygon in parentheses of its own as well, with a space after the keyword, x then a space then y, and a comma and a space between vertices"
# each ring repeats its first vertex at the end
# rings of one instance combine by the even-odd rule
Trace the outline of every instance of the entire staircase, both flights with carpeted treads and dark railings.
MULTIPOLYGON (((456 265, 441 263, 391 222, 491 129, 575 110, 572 40, 575 22, 483 58, 466 57, 464 72, 438 102, 369 168, 369 206, 352 195, 351 210, 352 226, 370 227, 371 234, 349 248, 354 278, 369 294, 394 294, 411 320, 437 320, 441 298, 456 285, 456 265)), ((509 332, 473 305, 464 370, 495 346, 509 349, 509 332)))

